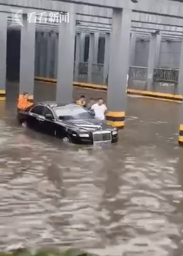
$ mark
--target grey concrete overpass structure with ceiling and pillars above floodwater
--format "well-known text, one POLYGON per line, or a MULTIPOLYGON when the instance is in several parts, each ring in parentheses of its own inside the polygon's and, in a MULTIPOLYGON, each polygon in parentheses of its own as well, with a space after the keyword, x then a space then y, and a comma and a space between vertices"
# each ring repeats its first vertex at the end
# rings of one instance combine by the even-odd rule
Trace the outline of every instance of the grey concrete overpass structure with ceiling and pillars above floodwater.
POLYGON ((6 75, 20 80, 20 94, 32 95, 35 76, 55 79, 56 100, 67 103, 72 101, 73 80, 103 84, 108 92, 106 118, 118 128, 124 127, 127 77, 132 89, 138 80, 137 89, 146 92, 165 92, 173 84, 166 92, 182 101, 183 4, 98 2, 0 0, 0 90, 6 89, 6 75), (146 66, 139 64, 143 58, 146 66), (162 88, 162 83, 168 86, 162 88))

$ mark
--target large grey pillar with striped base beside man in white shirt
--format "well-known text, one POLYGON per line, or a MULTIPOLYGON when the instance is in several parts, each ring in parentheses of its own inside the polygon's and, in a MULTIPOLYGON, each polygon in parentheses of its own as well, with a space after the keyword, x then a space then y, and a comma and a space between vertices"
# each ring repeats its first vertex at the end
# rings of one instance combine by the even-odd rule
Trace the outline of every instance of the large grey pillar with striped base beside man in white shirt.
POLYGON ((131 17, 132 10, 113 9, 106 120, 117 128, 124 128, 131 17))

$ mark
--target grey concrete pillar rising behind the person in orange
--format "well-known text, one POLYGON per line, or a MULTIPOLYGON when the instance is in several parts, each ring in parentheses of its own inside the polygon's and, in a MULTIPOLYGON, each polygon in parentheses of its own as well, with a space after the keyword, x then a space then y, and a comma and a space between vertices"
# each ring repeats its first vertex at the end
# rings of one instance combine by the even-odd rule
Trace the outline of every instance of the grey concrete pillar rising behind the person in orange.
POLYGON ((33 95, 35 66, 35 23, 29 23, 23 14, 20 43, 20 94, 33 95))

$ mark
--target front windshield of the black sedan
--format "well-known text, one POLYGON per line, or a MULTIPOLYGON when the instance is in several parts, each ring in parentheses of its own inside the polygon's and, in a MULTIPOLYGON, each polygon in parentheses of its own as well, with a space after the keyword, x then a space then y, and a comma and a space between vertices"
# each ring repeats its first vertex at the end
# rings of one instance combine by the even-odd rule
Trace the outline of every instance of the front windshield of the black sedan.
POLYGON ((94 118, 85 108, 80 106, 63 106, 54 108, 56 116, 61 120, 94 118))

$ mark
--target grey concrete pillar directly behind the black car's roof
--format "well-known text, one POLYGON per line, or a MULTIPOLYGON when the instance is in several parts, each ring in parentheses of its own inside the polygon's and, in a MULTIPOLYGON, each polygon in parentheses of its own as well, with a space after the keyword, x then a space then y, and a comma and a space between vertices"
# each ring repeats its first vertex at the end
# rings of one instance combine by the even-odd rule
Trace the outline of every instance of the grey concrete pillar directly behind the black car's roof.
POLYGON ((70 5, 69 22, 59 23, 58 67, 56 101, 63 104, 73 100, 73 73, 76 15, 70 5))

